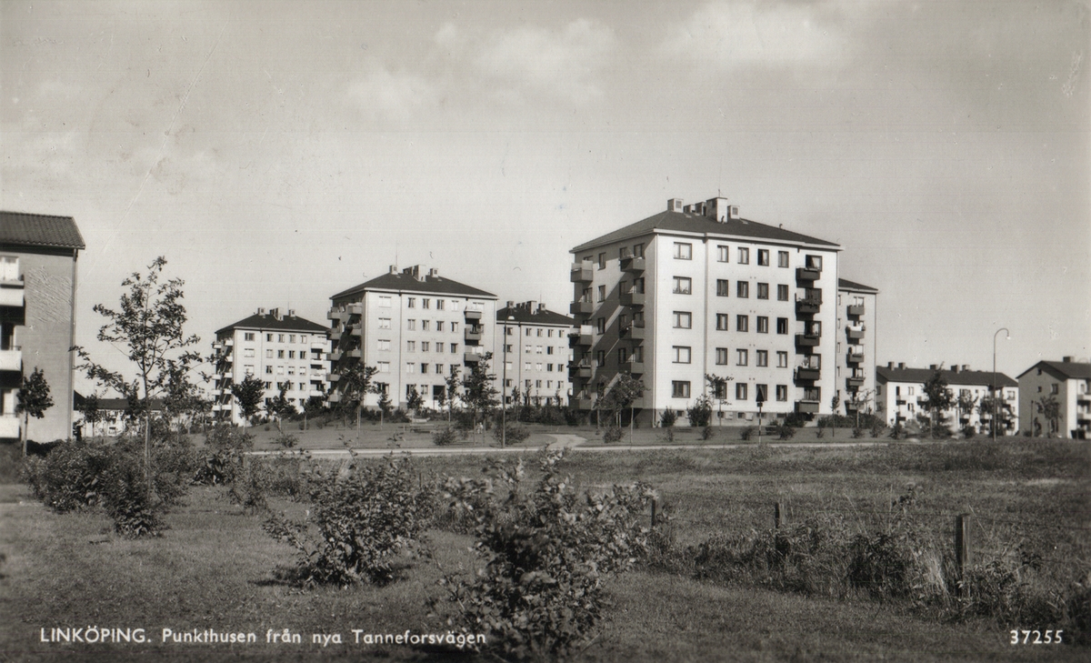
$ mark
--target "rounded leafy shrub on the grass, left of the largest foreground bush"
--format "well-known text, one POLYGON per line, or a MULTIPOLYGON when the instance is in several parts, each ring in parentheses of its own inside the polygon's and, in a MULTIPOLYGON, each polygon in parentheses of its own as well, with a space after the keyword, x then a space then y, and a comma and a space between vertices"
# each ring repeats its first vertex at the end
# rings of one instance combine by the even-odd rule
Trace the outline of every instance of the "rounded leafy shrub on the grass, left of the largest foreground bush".
POLYGON ((430 517, 431 497, 413 479, 408 459, 353 459, 341 473, 312 466, 308 520, 271 518, 264 529, 299 551, 304 586, 393 581, 396 555, 413 545, 430 517))

